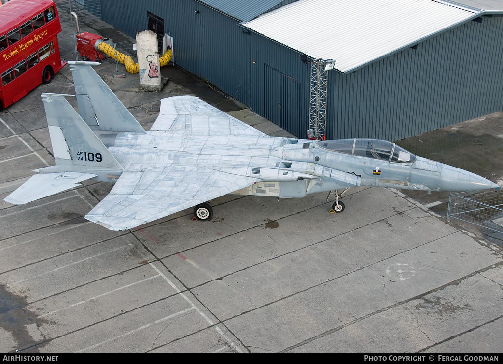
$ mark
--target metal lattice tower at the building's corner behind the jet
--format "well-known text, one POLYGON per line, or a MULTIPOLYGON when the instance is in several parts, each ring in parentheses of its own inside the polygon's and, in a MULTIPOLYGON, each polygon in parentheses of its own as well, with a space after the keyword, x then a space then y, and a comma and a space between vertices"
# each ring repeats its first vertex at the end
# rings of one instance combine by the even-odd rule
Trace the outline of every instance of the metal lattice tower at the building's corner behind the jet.
POLYGON ((309 139, 325 140, 327 61, 311 61, 309 96, 309 139))

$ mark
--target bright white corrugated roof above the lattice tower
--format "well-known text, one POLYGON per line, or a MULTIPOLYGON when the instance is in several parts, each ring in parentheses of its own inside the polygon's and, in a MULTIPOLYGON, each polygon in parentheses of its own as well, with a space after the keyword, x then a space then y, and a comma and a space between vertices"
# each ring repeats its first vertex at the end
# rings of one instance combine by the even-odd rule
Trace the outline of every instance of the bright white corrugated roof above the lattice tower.
POLYGON ((299 0, 242 25, 348 73, 481 14, 433 0, 299 0))

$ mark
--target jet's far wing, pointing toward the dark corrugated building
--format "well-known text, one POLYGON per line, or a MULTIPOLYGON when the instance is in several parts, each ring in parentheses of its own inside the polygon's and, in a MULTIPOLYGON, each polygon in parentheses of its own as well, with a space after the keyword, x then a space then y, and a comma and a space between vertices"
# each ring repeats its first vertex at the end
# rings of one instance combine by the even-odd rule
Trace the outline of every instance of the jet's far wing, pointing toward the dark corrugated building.
POLYGON ((267 135, 194 96, 162 99, 150 130, 202 136, 267 135))

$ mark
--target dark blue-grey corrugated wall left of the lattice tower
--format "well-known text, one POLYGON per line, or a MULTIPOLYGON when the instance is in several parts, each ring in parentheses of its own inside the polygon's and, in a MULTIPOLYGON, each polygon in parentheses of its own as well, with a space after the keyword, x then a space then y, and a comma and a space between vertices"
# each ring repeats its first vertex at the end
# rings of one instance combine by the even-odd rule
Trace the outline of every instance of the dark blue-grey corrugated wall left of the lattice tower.
POLYGON ((259 115, 267 112, 291 133, 306 134, 309 65, 299 53, 243 31, 238 20, 193 0, 124 1, 120 7, 101 1, 103 20, 133 38, 137 30, 147 29, 147 11, 162 18, 164 31, 174 38, 177 65, 259 115))

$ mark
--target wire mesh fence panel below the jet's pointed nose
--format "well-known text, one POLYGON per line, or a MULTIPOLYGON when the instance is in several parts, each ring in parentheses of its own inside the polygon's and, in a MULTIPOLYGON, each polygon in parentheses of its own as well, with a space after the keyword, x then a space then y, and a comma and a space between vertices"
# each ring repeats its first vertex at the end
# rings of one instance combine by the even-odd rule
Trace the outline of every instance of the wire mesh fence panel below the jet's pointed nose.
POLYGON ((503 190, 451 193, 447 219, 503 232, 503 190))

